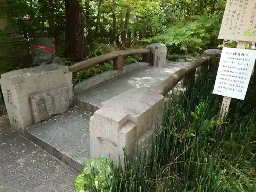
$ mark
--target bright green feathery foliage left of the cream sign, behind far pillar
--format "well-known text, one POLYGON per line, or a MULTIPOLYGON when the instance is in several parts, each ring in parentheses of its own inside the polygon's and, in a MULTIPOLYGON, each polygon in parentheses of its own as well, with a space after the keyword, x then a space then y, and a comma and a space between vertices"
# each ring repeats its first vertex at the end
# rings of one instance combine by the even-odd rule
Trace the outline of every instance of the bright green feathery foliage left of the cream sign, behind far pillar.
POLYGON ((192 22, 178 22, 164 33, 146 41, 164 42, 169 51, 195 54, 212 46, 212 42, 217 40, 220 24, 220 15, 205 15, 192 22))

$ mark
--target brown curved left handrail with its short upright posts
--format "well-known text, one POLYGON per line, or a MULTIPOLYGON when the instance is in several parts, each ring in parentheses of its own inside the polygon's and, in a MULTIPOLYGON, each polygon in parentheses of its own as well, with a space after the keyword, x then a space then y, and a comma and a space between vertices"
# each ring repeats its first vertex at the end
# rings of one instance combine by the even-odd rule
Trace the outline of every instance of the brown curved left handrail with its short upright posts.
POLYGON ((150 62, 150 53, 151 53, 150 48, 126 49, 121 51, 114 51, 111 53, 106 53, 97 57, 93 57, 91 59, 87 59, 87 60, 75 63, 69 66, 69 71, 75 73, 112 59, 114 59, 113 69, 122 70, 123 56, 143 54, 143 62, 150 62))

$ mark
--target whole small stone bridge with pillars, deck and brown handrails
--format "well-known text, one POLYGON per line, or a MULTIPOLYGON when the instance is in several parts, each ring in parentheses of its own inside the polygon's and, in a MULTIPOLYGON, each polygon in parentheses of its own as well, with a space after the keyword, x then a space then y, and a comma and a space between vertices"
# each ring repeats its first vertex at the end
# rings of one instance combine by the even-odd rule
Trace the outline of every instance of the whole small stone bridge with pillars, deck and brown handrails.
MULTIPOLYGON (((207 54, 208 53, 208 54, 207 54)), ((132 153, 154 130, 164 97, 206 69, 206 52, 191 63, 166 62, 167 48, 153 44, 101 55, 72 66, 43 65, 1 75, 1 88, 13 130, 81 172, 98 155, 114 162, 132 153), (123 57, 143 54, 143 62, 123 66, 123 57), (72 73, 108 60, 113 70, 73 87, 72 73), (200 70, 199 70, 200 69, 200 70)))

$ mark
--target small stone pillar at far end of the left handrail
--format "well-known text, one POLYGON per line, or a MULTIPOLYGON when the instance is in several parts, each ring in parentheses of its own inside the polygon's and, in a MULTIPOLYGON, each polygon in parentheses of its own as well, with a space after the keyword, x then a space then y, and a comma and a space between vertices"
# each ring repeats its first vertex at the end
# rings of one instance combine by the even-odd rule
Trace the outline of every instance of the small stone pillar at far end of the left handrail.
POLYGON ((151 65, 164 67, 167 56, 167 47, 161 43, 147 45, 146 47, 150 48, 151 50, 151 65))

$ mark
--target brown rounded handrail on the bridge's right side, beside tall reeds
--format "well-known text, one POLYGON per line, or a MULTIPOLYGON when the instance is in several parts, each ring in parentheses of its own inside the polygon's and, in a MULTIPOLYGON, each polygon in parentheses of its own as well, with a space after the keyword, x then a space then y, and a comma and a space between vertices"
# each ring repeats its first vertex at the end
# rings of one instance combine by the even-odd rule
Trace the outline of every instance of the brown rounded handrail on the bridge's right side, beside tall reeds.
POLYGON ((184 84, 187 84, 189 80, 195 77, 196 69, 198 67, 208 67, 205 63, 210 60, 210 56, 200 57, 195 61, 190 62, 188 65, 180 68, 174 74, 169 76, 159 87, 159 93, 161 95, 167 94, 172 90, 178 82, 184 78, 184 84))

